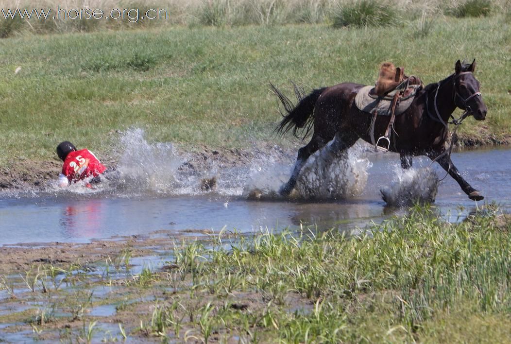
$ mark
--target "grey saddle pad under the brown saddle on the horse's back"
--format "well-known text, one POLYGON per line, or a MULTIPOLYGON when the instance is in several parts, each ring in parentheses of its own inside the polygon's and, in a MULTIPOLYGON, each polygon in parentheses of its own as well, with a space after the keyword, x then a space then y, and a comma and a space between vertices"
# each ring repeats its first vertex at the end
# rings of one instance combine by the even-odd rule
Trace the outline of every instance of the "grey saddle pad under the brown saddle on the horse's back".
MULTIPOLYGON (((405 112, 408 107, 410 107, 413 98, 415 98, 415 94, 417 93, 417 90, 419 87, 416 87, 417 85, 413 85, 410 87, 413 87, 413 91, 411 93, 403 98, 398 102, 398 106, 396 108, 396 114, 401 114, 405 112)), ((390 105, 392 102, 392 96, 393 93, 391 92, 386 97, 378 97, 376 95, 369 94, 369 91, 373 89, 374 86, 364 86, 358 91, 357 96, 355 96, 355 104, 357 105, 358 109, 364 112, 374 113, 374 109, 376 108, 376 111, 381 116, 389 116, 390 115, 390 105)), ((406 92, 408 93, 408 91, 406 92)))

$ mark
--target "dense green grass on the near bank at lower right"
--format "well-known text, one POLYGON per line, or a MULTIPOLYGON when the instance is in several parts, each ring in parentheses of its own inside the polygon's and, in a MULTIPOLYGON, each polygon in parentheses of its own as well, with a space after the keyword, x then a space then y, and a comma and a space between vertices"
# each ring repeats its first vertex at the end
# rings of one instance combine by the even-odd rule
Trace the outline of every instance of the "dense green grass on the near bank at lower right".
MULTIPOLYGON (((216 276, 210 289, 217 294, 229 290, 229 279, 236 276, 238 293, 265 295, 271 306, 256 322, 263 341, 424 341, 454 335, 471 341, 446 327, 445 319, 459 327, 468 318, 479 329, 498 328, 496 320, 511 307, 511 227, 497 225, 496 219, 475 217, 451 225, 433 209, 415 208, 359 238, 337 232, 267 234, 207 253, 212 262, 199 274, 216 276), (310 300, 309 312, 286 311, 293 293, 310 300)), ((228 320, 222 316, 211 320, 217 329, 237 331, 257 318, 250 312, 231 312, 228 320)), ((484 334, 498 339, 489 332, 484 334)))

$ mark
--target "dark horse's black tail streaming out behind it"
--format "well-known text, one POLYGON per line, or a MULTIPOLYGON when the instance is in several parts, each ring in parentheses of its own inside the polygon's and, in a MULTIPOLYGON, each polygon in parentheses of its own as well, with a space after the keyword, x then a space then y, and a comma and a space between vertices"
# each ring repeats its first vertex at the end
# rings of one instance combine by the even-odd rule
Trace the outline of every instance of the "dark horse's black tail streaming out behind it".
POLYGON ((298 104, 293 105, 293 103, 284 96, 280 90, 273 86, 273 84, 270 83, 270 86, 273 93, 278 97, 278 100, 284 105, 285 110, 285 112, 281 111, 284 118, 275 131, 284 134, 292 128, 293 135, 300 139, 305 139, 305 137, 309 135, 312 124, 314 123, 314 105, 327 87, 314 89, 306 96, 304 89, 293 83, 294 93, 298 99, 298 104))

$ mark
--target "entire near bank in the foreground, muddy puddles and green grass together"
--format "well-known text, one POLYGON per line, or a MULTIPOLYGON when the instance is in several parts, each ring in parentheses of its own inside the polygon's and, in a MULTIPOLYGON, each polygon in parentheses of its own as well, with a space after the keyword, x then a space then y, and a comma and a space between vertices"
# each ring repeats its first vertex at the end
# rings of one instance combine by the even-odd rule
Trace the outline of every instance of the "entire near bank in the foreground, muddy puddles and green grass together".
POLYGON ((132 243, 103 263, 0 276, 0 322, 15 341, 506 342, 509 231, 495 207, 458 224, 414 208, 352 238, 160 237, 145 255, 163 269, 133 266, 132 243))

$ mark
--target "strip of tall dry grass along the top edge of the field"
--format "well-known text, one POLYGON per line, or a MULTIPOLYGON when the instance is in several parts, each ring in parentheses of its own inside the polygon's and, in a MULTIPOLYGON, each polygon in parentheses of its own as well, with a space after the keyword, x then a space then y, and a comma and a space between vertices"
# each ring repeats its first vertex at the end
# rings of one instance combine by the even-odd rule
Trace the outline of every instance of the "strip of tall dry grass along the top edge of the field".
MULTIPOLYGON (((121 30, 144 26, 161 25, 282 25, 326 23, 334 27, 344 26, 389 26, 424 16, 437 17, 445 13, 456 17, 487 16, 509 11, 506 0, 154 0, 143 2, 130 0, 64 0, 58 3, 61 9, 131 9, 138 13, 136 22, 125 15, 124 19, 31 19, 5 18, 0 14, 0 37, 5 38, 23 32, 91 32, 97 30, 121 30), (142 19, 149 9, 164 9, 165 19, 142 19)), ((29 12, 36 8, 51 9, 56 13, 57 3, 49 0, 36 2, 0 1, 0 8, 29 12)), ((7 12, 6 12, 7 13, 7 12)), ((152 12, 153 13, 153 12, 152 12)))

